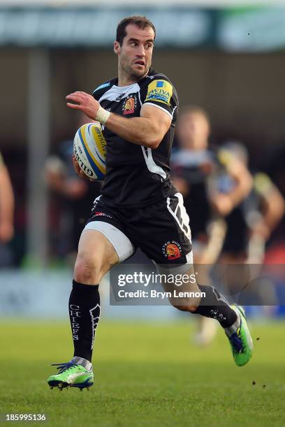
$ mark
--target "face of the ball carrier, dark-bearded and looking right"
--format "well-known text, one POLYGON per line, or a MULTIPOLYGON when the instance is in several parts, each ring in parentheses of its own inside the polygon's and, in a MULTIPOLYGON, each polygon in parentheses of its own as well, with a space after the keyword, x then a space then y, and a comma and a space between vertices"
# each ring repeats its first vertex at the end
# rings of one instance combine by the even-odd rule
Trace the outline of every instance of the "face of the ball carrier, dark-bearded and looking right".
POLYGON ((126 26, 122 46, 115 42, 114 50, 119 58, 119 70, 130 80, 147 75, 152 64, 154 31, 151 27, 140 29, 134 24, 126 26))

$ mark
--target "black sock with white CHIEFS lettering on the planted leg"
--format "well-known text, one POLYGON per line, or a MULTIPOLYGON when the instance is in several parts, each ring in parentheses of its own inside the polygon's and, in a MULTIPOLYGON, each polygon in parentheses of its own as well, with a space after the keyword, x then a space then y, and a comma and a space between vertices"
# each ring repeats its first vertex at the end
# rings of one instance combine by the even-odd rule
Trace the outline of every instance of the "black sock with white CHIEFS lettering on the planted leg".
POLYGON ((100 318, 98 285, 83 285, 73 280, 68 310, 74 356, 91 361, 95 330, 100 318))

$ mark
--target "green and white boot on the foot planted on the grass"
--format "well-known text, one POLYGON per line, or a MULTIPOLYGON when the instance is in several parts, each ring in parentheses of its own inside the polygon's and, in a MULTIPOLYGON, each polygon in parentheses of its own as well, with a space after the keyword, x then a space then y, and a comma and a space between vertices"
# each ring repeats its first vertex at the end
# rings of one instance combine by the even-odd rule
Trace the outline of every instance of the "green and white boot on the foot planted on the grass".
POLYGON ((77 359, 85 361, 85 359, 73 357, 71 361, 65 364, 51 365, 57 366, 59 372, 48 378, 47 383, 50 389, 58 387, 59 390, 62 391, 65 387, 67 389, 70 387, 77 387, 80 391, 82 391, 82 389, 89 390, 94 383, 92 364, 88 361, 86 361, 87 364, 80 364, 77 359))

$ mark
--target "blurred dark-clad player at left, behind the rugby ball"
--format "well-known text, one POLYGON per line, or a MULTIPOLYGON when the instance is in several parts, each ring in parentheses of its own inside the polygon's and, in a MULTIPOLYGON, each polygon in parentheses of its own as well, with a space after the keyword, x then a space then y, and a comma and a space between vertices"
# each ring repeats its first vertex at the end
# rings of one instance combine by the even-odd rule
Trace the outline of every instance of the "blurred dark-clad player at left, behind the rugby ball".
MULTIPOLYGON (((78 128, 92 122, 79 115, 78 128)), ((85 181, 73 168, 73 139, 59 144, 57 153, 47 158, 45 181, 50 189, 50 257, 73 265, 78 241, 90 213, 90 205, 100 193, 101 184, 85 181)))

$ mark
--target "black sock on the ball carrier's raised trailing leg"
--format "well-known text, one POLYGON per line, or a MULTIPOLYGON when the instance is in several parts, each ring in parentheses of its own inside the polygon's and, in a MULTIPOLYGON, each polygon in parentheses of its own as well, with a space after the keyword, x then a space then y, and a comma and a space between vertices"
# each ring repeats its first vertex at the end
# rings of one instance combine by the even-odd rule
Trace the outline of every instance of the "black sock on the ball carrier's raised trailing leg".
POLYGON ((228 301, 212 286, 198 285, 205 297, 201 298, 200 306, 194 314, 217 319, 223 328, 231 327, 238 319, 237 313, 228 304, 228 301))

